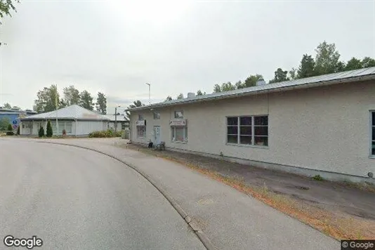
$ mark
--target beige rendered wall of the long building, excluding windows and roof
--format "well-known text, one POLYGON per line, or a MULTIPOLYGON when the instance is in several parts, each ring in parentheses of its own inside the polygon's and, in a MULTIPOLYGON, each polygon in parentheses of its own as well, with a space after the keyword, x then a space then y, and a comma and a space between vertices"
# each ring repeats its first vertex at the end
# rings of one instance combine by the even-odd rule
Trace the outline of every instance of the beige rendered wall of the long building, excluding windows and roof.
POLYGON ((369 110, 375 110, 375 81, 337 84, 244 98, 165 107, 154 120, 150 110, 131 115, 131 139, 147 143, 161 126, 167 147, 220 154, 271 164, 367 176, 369 110), (175 110, 187 119, 188 142, 172 143, 169 120, 175 110), (137 138, 134 121, 144 114, 147 137, 137 138), (268 114, 268 148, 226 145, 226 117, 268 114))

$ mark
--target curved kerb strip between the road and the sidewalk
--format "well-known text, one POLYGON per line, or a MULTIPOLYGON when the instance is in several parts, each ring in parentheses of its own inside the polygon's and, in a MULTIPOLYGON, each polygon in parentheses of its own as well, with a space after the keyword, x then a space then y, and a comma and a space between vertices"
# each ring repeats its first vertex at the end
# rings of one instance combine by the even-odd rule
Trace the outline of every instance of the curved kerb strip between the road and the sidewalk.
POLYGON ((152 178, 150 178, 150 176, 148 176, 147 173, 145 173, 144 171, 138 169, 133 164, 131 164, 129 162, 124 162, 123 160, 121 160, 121 159, 119 159, 119 158, 117 158, 117 157, 115 157, 115 156, 113 156, 111 154, 107 154, 105 152, 101 152, 100 150, 94 150, 93 148, 90 148, 90 147, 84 147, 84 146, 79 146, 79 145, 72 145, 72 144, 67 144, 67 143, 45 142, 45 141, 37 141, 35 143, 48 143, 48 144, 55 144, 55 145, 65 145, 65 146, 70 146, 70 147, 80 147, 80 148, 83 148, 85 150, 91 150, 91 151, 98 152, 100 154, 105 154, 106 156, 111 157, 113 159, 116 159, 117 161, 121 162, 122 164, 125 164, 126 166, 129 166, 131 169, 133 169, 134 171, 136 171, 137 173, 139 173, 141 176, 143 176, 143 178, 145 178, 146 180, 148 180, 148 182, 151 183, 166 198, 166 200, 168 200, 168 202, 173 206, 174 209, 176 209, 176 211, 178 212, 178 214, 180 214, 180 216, 187 223, 187 225, 189 225, 190 228, 195 232, 195 235, 197 235, 197 237, 200 239, 200 241, 206 247, 206 249, 208 249, 208 250, 216 250, 216 247, 213 246, 213 244, 211 243, 210 239, 208 237, 206 237, 206 235, 204 234, 204 232, 202 232, 201 228, 199 228, 199 225, 195 221, 193 221, 192 218, 190 218, 190 216, 187 215, 187 213, 171 197, 171 195, 169 195, 168 192, 166 192, 166 190, 164 190, 162 187, 160 187, 160 185, 158 185, 154 180, 152 180, 152 178))

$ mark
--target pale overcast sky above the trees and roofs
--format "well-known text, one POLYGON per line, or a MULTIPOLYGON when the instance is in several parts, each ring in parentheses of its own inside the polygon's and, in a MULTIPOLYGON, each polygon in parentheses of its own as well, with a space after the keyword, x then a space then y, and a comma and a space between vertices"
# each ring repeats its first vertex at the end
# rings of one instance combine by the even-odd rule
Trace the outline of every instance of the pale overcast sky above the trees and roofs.
POLYGON ((27 1, 2 20, 1 100, 73 84, 107 105, 152 102, 250 74, 272 79, 326 40, 341 60, 375 57, 375 1, 27 1))

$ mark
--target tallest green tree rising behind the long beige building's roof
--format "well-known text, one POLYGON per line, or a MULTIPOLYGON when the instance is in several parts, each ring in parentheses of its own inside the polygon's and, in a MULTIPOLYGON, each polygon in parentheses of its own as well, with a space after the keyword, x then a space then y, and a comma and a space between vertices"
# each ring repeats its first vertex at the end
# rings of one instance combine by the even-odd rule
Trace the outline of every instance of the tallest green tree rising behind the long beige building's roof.
POLYGON ((315 56, 315 72, 317 75, 331 74, 338 72, 343 65, 338 63, 340 60, 340 53, 336 51, 335 44, 328 44, 323 41, 315 49, 317 55, 315 56))

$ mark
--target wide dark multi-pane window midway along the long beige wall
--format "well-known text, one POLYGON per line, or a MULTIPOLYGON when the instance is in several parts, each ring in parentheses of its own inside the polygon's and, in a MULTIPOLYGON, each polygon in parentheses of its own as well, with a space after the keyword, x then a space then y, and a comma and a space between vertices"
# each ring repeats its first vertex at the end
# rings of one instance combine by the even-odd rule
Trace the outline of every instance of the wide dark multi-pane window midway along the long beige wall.
POLYGON ((227 117, 227 143, 268 146, 268 116, 227 117))

